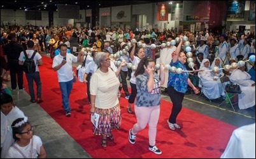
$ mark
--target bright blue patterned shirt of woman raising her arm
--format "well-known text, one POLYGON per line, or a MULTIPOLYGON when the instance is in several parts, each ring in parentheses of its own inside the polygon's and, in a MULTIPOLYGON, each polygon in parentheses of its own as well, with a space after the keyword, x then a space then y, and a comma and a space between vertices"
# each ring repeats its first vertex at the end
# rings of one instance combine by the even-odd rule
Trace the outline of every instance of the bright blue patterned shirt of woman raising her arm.
MULTIPOLYGON (((182 70, 187 70, 186 66, 183 65, 179 60, 176 63, 173 63, 173 60, 170 63, 171 67, 181 68, 182 70)), ((182 72, 180 74, 172 73, 169 70, 169 79, 167 86, 173 86, 174 89, 178 92, 187 92, 188 85, 188 72, 182 72)))

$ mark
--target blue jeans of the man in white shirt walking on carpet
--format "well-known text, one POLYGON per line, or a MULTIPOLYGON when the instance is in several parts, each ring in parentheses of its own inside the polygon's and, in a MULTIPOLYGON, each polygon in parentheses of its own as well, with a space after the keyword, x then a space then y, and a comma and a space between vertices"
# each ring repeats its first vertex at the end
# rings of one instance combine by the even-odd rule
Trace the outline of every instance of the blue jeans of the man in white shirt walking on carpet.
POLYGON ((69 80, 68 82, 59 82, 61 97, 62 97, 62 105, 65 112, 71 111, 69 106, 69 95, 71 93, 73 87, 73 80, 69 80))

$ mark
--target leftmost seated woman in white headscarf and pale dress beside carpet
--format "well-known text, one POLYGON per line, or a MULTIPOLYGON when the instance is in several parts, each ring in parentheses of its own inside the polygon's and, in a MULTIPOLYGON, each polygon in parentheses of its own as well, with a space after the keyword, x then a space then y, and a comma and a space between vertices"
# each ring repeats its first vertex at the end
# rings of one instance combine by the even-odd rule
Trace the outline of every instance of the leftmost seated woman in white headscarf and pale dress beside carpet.
POLYGON ((199 85, 201 84, 204 95, 208 99, 217 99, 220 96, 225 96, 224 88, 222 87, 222 83, 220 79, 217 79, 213 72, 211 71, 210 61, 208 59, 204 59, 200 66, 202 72, 198 73, 198 77, 201 80, 199 85))

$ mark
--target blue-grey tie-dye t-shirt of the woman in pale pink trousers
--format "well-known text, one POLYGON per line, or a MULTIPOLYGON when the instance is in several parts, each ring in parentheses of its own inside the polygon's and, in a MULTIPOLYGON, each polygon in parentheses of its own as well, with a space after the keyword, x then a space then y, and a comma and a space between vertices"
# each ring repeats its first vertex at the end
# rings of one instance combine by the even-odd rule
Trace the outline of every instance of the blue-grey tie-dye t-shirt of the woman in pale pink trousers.
POLYGON ((143 73, 136 77, 136 87, 137 87, 137 96, 136 96, 136 106, 158 106, 160 105, 160 80, 157 73, 153 74, 154 86, 153 91, 148 92, 148 74, 143 73))

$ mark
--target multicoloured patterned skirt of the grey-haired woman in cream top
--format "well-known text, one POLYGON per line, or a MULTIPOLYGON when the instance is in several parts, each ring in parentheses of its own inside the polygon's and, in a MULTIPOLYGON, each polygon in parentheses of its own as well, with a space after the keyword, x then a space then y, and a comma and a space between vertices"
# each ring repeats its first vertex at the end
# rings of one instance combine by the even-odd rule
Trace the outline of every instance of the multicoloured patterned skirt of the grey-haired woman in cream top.
POLYGON ((110 109, 96 108, 95 112, 99 114, 99 129, 94 125, 92 126, 94 135, 109 137, 112 129, 120 128, 122 117, 119 103, 110 109))

